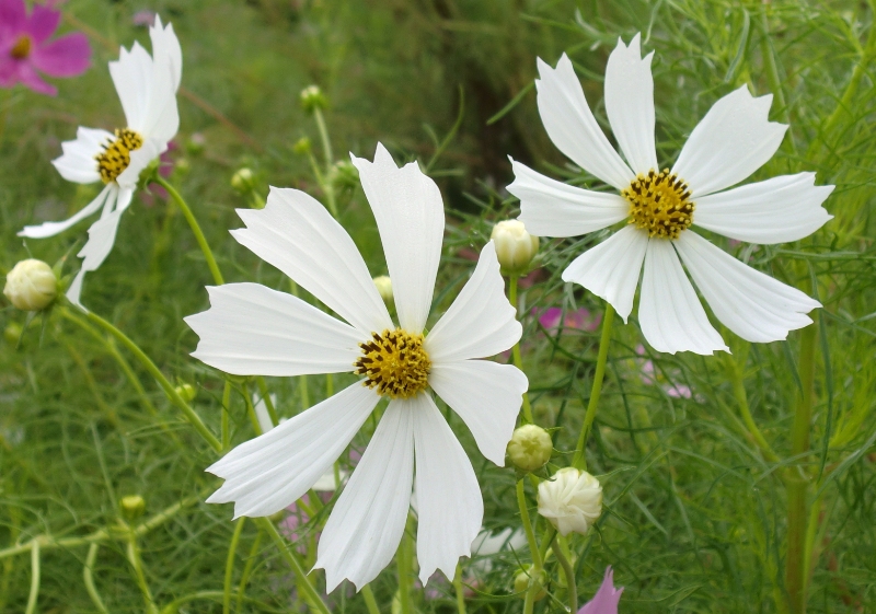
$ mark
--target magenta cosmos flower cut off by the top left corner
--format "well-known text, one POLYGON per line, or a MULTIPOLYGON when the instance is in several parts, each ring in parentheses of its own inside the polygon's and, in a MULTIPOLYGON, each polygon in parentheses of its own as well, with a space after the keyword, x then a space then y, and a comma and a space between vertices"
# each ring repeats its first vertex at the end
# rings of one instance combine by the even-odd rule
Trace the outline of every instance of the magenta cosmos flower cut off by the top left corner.
POLYGON ((91 63, 89 39, 81 32, 49 40, 61 12, 36 4, 31 14, 24 0, 0 0, 0 88, 23 83, 34 92, 54 96, 49 77, 76 77, 91 63))

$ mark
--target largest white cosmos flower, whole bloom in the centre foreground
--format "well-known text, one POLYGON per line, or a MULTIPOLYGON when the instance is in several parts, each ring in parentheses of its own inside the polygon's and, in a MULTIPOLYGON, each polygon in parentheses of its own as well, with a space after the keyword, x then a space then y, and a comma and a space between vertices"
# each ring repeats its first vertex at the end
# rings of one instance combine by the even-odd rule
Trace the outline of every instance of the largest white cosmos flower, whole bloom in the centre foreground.
POLYGON ((246 228, 232 235, 346 322, 256 283, 208 288, 210 309, 186 318, 200 337, 193 356, 228 373, 364 375, 207 470, 226 479, 207 500, 234 501, 234 518, 268 515, 304 495, 388 397, 320 540, 315 566, 330 591, 344 578, 361 588, 392 560, 414 482, 420 579, 436 569, 453 577, 484 508, 471 462, 428 389, 463 419, 484 456, 503 465, 528 385, 510 364, 475 360, 521 334, 493 243, 424 338, 445 228, 438 186, 416 163, 397 167, 381 144, 373 163, 353 163, 377 219, 397 327, 341 224, 303 192, 278 188, 264 209, 238 210, 246 228))

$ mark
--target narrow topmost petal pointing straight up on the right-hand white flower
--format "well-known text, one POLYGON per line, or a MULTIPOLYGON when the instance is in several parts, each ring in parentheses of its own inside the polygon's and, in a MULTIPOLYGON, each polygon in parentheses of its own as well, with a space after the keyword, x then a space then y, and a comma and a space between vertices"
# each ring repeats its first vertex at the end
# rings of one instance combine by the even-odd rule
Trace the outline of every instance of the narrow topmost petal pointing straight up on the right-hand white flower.
POLYGON ((626 47, 618 37, 606 67, 606 113, 633 172, 647 174, 659 170, 654 147, 654 51, 643 58, 641 38, 636 34, 626 47))

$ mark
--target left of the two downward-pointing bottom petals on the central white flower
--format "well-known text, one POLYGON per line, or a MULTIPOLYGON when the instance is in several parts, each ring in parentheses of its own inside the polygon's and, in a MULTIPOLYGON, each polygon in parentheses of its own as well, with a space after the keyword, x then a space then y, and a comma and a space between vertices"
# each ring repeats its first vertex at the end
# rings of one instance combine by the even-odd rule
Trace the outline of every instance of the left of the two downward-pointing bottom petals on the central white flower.
POLYGON ((414 417, 391 401, 325 523, 314 567, 325 590, 345 578, 361 589, 390 564, 402 541, 414 474, 414 417))

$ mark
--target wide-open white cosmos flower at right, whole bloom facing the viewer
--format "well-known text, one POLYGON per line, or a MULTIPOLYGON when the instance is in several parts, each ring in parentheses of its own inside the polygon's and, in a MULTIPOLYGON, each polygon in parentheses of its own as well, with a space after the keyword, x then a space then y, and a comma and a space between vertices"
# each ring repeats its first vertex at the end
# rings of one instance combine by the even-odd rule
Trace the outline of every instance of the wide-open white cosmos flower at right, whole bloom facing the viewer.
POLYGON ((818 301, 688 229, 762 244, 796 241, 831 219, 821 202, 833 186, 816 186, 815 173, 798 173, 726 189, 770 160, 787 129, 768 120, 772 95, 754 99, 745 85, 714 104, 672 170, 660 172, 653 56, 642 58, 636 35, 629 47, 618 42, 606 68, 606 112, 626 162, 597 125, 568 57, 555 69, 539 60, 539 113, 551 140, 621 194, 573 187, 511 161, 516 178, 508 192, 520 199, 520 220, 542 236, 574 236, 627 220, 578 256, 563 279, 607 300, 626 322, 644 263, 638 321, 659 351, 727 350, 681 263, 727 328, 749 341, 784 339, 811 323, 806 313, 818 301))

